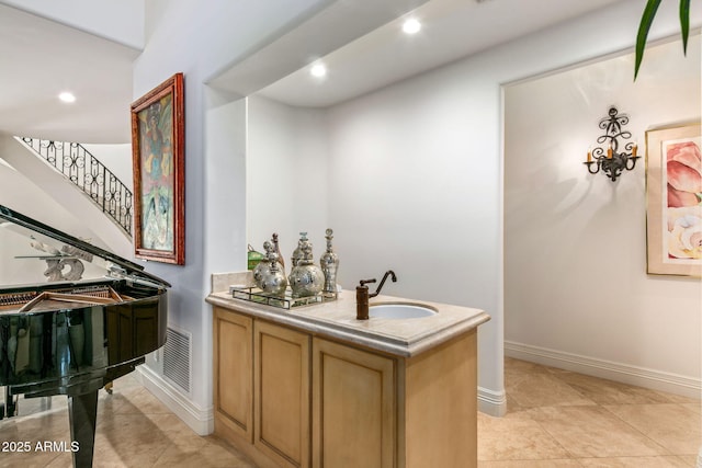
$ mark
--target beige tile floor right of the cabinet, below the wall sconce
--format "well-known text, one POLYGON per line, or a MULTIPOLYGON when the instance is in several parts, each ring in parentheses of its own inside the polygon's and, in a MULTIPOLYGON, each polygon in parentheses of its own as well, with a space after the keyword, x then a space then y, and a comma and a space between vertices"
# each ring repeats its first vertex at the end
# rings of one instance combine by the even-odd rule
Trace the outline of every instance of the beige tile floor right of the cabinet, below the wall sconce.
POLYGON ((507 415, 478 414, 479 468, 694 467, 700 400, 505 362, 507 415))

